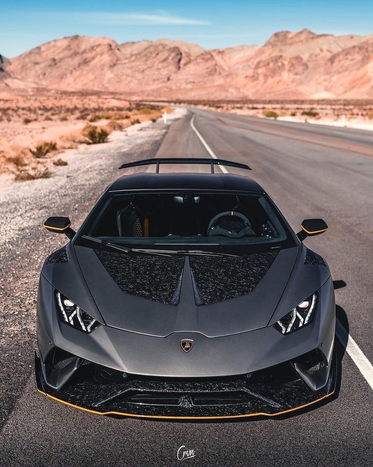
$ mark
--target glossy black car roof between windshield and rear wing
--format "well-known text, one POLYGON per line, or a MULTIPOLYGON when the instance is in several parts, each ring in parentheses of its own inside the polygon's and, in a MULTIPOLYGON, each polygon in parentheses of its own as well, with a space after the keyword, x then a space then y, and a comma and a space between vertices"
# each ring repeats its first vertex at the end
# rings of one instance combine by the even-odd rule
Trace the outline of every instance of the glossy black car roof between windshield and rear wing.
POLYGON ((234 174, 201 173, 141 173, 124 175, 113 182, 108 191, 127 190, 219 190, 265 193, 265 190, 248 177, 234 174))

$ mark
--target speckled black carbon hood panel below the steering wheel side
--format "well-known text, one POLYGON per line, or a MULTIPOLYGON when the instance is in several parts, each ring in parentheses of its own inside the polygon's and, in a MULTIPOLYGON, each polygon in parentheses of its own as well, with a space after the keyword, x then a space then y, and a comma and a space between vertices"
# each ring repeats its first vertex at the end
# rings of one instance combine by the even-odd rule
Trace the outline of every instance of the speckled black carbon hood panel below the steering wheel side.
POLYGON ((242 256, 191 256, 196 305, 250 293, 267 274, 277 251, 242 256))

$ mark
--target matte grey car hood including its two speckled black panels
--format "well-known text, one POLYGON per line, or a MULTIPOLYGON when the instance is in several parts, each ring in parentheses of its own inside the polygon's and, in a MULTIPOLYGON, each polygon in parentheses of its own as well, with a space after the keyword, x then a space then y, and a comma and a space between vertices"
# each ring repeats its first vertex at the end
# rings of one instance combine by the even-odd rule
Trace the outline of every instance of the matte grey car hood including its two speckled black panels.
POLYGON ((79 263, 103 322, 159 337, 183 331, 218 337, 267 326, 299 250, 234 257, 72 249, 70 260, 79 263))

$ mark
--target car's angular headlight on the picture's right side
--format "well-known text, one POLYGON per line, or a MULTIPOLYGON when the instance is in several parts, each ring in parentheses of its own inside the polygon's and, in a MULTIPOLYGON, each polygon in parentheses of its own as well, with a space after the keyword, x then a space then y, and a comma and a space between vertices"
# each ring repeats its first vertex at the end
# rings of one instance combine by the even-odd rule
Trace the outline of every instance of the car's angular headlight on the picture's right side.
POLYGON ((317 302, 317 292, 291 310, 273 325, 281 334, 289 334, 301 327, 307 326, 313 320, 317 302))

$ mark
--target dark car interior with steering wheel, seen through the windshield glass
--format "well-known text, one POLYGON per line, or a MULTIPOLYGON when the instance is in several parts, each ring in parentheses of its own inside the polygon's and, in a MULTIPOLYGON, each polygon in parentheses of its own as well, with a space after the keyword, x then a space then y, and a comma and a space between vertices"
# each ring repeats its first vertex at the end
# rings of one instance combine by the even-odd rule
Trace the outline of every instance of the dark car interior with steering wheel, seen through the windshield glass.
POLYGON ((260 195, 170 192, 109 196, 91 237, 282 237, 283 227, 260 195))

